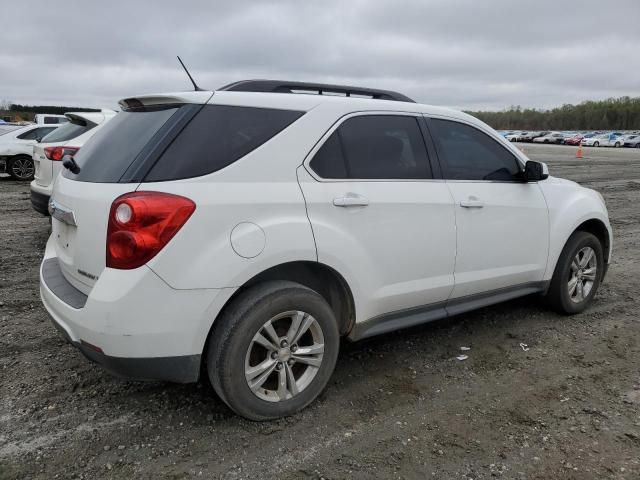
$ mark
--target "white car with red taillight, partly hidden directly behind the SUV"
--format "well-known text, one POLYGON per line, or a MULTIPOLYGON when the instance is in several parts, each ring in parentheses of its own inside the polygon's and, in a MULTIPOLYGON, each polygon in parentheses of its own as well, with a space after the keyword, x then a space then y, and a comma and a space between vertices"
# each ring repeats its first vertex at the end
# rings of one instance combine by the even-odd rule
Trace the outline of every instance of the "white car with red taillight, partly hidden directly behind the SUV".
POLYGON ((31 205, 43 215, 49 215, 49 197, 53 184, 62 170, 65 156, 75 155, 103 125, 115 116, 113 110, 101 112, 70 112, 67 123, 48 134, 33 149, 34 180, 31 182, 31 205))

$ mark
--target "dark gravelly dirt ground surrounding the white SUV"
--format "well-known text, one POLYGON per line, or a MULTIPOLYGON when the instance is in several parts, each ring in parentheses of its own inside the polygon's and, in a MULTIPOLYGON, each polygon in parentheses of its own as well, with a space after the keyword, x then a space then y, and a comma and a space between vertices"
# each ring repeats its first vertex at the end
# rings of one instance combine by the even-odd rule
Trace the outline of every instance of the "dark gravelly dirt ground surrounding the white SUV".
POLYGON ((48 221, 28 183, 0 178, 0 479, 640 478, 640 150, 524 148, 607 200, 592 308, 528 297, 345 343, 322 397, 271 423, 204 383, 113 378, 66 344, 38 294, 48 221))

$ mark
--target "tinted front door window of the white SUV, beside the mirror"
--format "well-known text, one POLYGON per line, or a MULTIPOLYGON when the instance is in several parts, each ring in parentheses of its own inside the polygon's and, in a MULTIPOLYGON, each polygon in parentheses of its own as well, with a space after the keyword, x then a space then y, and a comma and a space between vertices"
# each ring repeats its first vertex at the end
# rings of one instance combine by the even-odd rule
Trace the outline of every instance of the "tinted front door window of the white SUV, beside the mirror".
POLYGON ((432 119, 430 130, 444 178, 452 180, 515 180, 516 158, 487 134, 463 123, 432 119))

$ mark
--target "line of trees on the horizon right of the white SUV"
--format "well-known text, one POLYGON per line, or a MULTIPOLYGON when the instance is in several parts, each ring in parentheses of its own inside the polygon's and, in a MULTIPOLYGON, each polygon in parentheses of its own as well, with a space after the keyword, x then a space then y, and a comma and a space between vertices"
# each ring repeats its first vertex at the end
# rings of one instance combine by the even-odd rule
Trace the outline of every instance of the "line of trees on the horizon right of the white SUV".
POLYGON ((512 106, 499 112, 467 112, 498 130, 638 130, 640 97, 608 98, 551 110, 512 106))

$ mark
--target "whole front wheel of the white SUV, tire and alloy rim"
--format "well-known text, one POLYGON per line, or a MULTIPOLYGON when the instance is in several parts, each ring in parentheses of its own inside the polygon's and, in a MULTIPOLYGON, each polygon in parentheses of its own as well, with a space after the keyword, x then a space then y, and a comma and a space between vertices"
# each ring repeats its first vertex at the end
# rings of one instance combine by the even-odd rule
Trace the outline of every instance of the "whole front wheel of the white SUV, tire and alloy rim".
POLYGON ((549 305, 553 310, 565 315, 582 312, 591 304, 600 286, 603 272, 604 254, 600 241, 591 233, 574 232, 562 249, 553 272, 547 292, 549 305), (590 253, 592 256, 589 256, 590 253), (583 265, 587 257, 593 262, 589 261, 583 265), (574 265, 576 258, 581 259, 583 263, 578 262, 574 265), (588 272, 593 274, 587 277, 588 272), (575 280, 575 288, 572 288, 573 280, 575 280))

